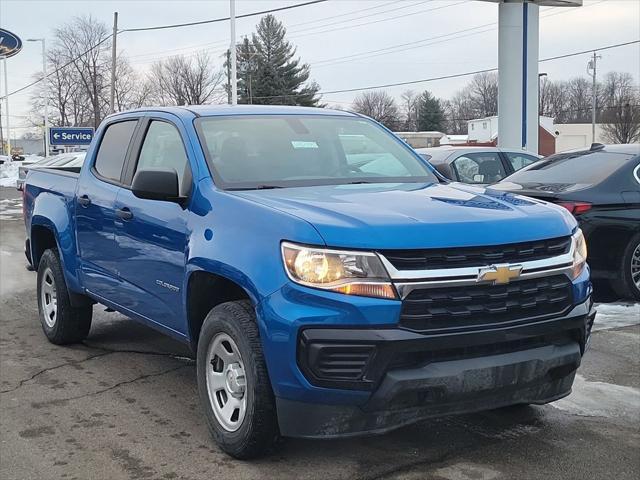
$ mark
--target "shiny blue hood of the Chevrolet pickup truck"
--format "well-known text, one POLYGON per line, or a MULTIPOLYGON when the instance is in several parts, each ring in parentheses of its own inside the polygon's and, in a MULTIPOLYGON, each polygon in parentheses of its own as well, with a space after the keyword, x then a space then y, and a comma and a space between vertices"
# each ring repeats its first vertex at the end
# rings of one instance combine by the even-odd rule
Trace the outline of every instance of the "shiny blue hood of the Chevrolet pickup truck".
POLYGON ((576 225, 563 208, 458 183, 329 185, 234 194, 306 220, 332 247, 499 245, 569 235, 576 225))

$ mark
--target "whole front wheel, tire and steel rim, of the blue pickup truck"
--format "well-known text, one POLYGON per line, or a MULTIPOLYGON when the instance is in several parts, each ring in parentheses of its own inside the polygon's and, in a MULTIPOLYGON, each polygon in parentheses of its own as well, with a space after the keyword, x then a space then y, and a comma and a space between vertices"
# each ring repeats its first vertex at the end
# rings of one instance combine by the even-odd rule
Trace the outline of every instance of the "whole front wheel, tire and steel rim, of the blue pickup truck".
POLYGON ((275 400, 248 301, 211 309, 198 340, 197 373, 209 430, 222 450, 248 459, 277 444, 275 400))

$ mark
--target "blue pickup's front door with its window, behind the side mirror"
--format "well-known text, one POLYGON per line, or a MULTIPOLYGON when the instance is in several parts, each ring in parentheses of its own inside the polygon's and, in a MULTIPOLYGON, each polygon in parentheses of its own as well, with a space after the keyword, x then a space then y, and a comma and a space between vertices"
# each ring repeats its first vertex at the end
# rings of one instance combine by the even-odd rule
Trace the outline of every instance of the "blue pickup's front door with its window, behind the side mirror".
MULTIPOLYGON (((146 126, 135 171, 173 168, 180 194, 188 196, 192 175, 182 137, 170 122, 146 126)), ((118 303, 155 323, 186 334, 183 282, 189 211, 178 203, 137 198, 122 188, 116 199, 115 238, 120 286, 118 303)))

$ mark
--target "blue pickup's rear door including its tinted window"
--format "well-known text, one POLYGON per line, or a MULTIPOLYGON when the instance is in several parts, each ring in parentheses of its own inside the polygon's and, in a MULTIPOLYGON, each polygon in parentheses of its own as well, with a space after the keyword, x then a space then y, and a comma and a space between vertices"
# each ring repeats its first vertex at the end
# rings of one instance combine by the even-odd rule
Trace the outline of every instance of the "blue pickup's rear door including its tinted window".
POLYGON ((108 125, 95 162, 78 180, 75 211, 83 283, 107 299, 113 297, 118 284, 114 232, 118 182, 137 122, 133 119, 108 125))

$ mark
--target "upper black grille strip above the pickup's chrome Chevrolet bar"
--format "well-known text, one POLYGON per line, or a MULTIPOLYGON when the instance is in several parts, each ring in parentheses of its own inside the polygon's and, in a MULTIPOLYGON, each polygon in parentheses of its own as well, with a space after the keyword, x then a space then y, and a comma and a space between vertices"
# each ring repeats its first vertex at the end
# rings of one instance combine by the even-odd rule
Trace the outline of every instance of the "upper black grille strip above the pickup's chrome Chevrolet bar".
POLYGON ((571 237, 561 237, 489 247, 383 250, 380 253, 397 270, 430 270, 530 262, 562 255, 570 248, 571 237))

